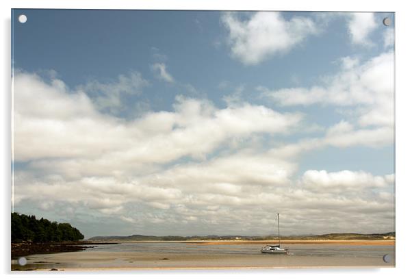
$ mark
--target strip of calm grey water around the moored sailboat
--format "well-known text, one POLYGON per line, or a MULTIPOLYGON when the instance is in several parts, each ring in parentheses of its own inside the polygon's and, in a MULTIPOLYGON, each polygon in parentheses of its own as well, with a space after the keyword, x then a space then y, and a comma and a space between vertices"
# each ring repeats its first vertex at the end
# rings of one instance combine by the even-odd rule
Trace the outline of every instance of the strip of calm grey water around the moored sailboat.
MULTIPOLYGON (((140 252, 140 253, 190 253, 190 254, 230 254, 261 255, 264 244, 190 244, 190 243, 122 243, 94 245, 86 251, 100 252, 140 252)), ((335 244, 285 244, 291 255, 320 257, 383 257, 394 255, 394 246, 356 246, 335 244)))

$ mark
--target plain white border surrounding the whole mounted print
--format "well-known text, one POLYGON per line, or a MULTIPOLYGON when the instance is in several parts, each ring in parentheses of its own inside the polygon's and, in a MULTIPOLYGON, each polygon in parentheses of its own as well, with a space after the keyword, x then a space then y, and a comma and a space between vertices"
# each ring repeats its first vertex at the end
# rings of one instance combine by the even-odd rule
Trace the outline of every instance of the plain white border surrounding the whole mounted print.
MULTIPOLYGON (((129 272, 119 275, 133 279, 250 279, 281 277, 282 279, 345 279, 352 277, 373 277, 373 279, 403 279, 410 277, 411 269, 409 259, 411 259, 411 242, 408 242, 412 233, 411 218, 411 179, 409 174, 411 156, 411 10, 408 9, 407 1, 324 1, 324 0, 283 0, 283 1, 240 1, 240 0, 151 0, 151 1, 130 1, 130 0, 3 0, 0 1, 0 13, 2 23, 1 55, 3 62, 1 69, 1 178, 3 184, 2 199, 3 205, 3 225, 1 232, 1 272, 8 273, 10 270, 10 14, 11 8, 83 8, 83 9, 155 9, 155 10, 310 10, 310 11, 389 11, 396 12, 396 268, 384 268, 374 270, 350 270, 350 269, 311 269, 311 270, 168 270, 168 271, 144 271, 129 272)), ((92 273, 84 275, 82 273, 59 275, 59 278, 81 277, 90 279, 111 279, 116 272, 92 273)), ((7 277, 10 275, 7 275, 7 277)), ((17 278, 25 275, 17 274, 17 278)), ((31 278, 44 279, 55 278, 56 274, 32 273, 31 278)))

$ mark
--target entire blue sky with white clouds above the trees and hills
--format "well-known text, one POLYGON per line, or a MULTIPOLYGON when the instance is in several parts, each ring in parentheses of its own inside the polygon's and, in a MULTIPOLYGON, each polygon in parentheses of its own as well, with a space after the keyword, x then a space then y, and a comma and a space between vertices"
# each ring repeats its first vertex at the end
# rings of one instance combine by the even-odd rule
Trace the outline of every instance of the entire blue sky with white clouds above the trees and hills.
POLYGON ((393 13, 15 9, 12 70, 15 212, 86 238, 394 231, 393 13))

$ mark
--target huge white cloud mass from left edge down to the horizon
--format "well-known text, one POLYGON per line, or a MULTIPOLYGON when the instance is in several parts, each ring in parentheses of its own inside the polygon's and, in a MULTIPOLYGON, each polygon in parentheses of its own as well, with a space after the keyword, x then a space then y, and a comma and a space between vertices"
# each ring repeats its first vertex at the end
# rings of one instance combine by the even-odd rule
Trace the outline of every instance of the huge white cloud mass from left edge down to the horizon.
MULTIPOLYGON (((116 217, 136 225, 131 233, 157 235, 268 234, 275 211, 283 213, 289 234, 313 232, 309 215, 320 233, 356 231, 355 217, 366 222, 364 231, 391 230, 392 217, 383 214, 393 209, 393 175, 312 170, 296 179, 298 165, 290 156, 296 147, 288 154, 282 145, 283 151, 268 151, 255 144, 262 135, 275 141, 296 131, 302 114, 249 103, 218 108, 178 97, 170 112, 124 120, 99 112, 84 92, 28 73, 14 76, 14 104, 14 159, 27 164, 14 173, 16 209, 37 205, 54 212, 70 203, 77 216, 83 209, 103 216, 102 224, 116 217), (316 181, 323 173, 327 179, 316 181), (339 180, 347 187, 337 188, 339 180), (363 191, 354 197, 357 186, 363 191), (375 187, 385 192, 376 194, 375 187), (346 216, 331 227, 324 216, 336 212, 346 216)), ((339 138, 350 133, 357 134, 355 126, 342 122, 298 149, 345 147, 339 138)))

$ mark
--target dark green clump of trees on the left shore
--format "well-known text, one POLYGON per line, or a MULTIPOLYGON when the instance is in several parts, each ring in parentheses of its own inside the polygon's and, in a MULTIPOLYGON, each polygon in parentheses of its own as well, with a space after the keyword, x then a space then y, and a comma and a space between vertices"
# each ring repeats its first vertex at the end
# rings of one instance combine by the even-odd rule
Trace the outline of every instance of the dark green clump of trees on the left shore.
POLYGON ((62 242, 83 239, 81 232, 70 224, 36 219, 36 216, 12 213, 12 242, 62 242))

